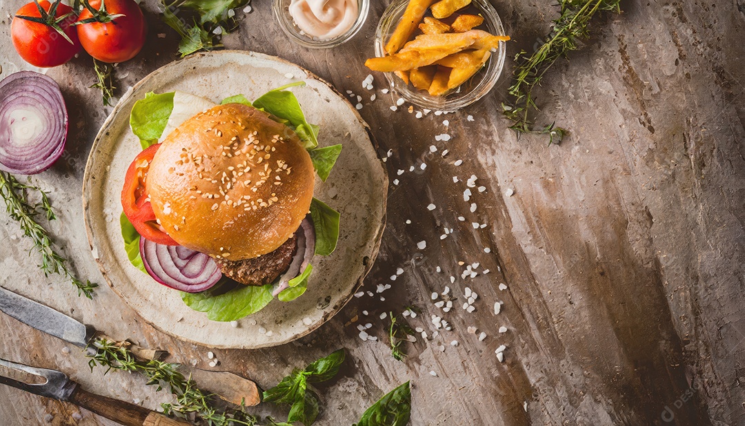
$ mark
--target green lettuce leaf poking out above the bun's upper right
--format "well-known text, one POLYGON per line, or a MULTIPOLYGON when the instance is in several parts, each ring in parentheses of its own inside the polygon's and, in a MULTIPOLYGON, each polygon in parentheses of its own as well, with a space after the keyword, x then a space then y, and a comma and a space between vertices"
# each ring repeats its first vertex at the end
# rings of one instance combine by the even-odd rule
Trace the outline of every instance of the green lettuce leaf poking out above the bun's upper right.
POLYGON ((305 120, 305 114, 302 113, 294 93, 285 90, 295 86, 305 86, 305 81, 270 90, 253 101, 253 106, 287 120, 287 125, 295 131, 305 149, 313 149, 318 146, 318 127, 305 120))

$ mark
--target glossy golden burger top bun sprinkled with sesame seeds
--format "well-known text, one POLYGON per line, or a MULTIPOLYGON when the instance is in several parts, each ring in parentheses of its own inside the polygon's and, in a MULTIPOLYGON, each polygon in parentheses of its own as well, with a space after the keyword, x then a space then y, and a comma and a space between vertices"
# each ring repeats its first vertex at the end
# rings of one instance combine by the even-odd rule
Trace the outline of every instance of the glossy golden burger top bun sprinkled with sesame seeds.
POLYGON ((212 107, 163 140, 145 186, 176 242, 241 260, 279 248, 313 198, 311 157, 297 135, 243 104, 212 107))

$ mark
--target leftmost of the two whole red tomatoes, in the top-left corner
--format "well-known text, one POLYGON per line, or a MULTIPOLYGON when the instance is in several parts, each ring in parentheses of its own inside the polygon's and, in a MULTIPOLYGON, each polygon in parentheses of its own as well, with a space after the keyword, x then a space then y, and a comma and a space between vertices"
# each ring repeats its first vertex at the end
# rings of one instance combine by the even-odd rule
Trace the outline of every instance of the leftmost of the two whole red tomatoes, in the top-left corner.
POLYGON ((46 0, 39 1, 39 7, 44 10, 42 13, 36 3, 27 3, 16 12, 10 25, 13 46, 23 60, 33 66, 47 68, 62 65, 80 51, 77 31, 72 27, 77 19, 72 13, 72 7, 60 4, 59 0, 55 4, 50 4, 46 0), (42 20, 46 23, 24 18, 42 20), (62 34, 65 34, 69 41, 62 34))

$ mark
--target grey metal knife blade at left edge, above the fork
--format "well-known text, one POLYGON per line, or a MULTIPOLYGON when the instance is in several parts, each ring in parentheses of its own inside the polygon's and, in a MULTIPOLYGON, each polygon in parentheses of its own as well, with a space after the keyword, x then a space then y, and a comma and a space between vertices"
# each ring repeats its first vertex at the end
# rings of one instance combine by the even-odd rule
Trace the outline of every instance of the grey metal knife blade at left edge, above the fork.
POLYGON ((83 325, 51 307, 32 301, 0 287, 0 310, 38 331, 85 348, 96 333, 95 328, 83 325))

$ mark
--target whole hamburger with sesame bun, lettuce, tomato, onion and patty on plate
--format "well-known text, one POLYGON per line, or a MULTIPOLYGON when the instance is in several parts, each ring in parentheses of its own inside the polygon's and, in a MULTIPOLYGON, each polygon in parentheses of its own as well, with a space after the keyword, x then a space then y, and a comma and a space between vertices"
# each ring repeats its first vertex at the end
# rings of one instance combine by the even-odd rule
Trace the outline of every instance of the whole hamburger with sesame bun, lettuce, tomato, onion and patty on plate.
POLYGON ((313 194, 341 145, 317 148, 317 126, 285 89, 253 104, 148 93, 130 115, 145 148, 121 192, 130 261, 209 319, 239 319, 274 296, 294 300, 314 254, 336 246, 339 213, 313 194))

